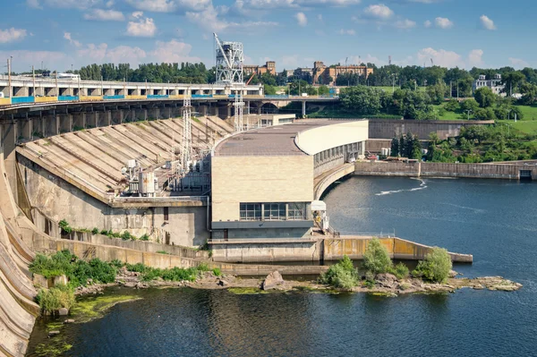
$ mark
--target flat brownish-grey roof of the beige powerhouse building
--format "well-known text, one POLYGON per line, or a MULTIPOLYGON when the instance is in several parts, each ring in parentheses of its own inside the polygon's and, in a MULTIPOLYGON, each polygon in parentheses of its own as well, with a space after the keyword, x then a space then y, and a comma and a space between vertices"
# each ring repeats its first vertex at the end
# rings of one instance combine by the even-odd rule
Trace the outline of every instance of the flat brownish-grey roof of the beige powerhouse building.
POLYGON ((215 149, 215 156, 307 155, 294 143, 297 133, 334 123, 342 123, 342 121, 302 119, 290 124, 243 132, 222 140, 215 149))

